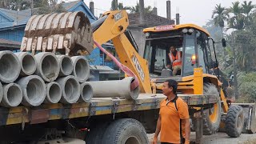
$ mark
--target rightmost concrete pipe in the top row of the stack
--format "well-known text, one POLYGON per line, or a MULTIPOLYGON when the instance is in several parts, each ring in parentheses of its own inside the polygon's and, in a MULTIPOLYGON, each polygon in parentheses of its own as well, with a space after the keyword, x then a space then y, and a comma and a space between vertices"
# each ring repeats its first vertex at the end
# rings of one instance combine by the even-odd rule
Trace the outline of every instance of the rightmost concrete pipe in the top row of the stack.
POLYGON ((89 62, 84 56, 74 56, 71 58, 73 62, 73 75, 78 78, 79 82, 86 82, 90 75, 89 62))

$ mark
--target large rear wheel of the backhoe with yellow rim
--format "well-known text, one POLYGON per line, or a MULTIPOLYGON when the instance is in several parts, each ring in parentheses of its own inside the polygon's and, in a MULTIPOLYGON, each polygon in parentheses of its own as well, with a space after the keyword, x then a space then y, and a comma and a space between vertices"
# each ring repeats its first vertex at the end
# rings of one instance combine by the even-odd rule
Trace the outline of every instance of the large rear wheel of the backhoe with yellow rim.
MULTIPOLYGON (((217 95, 218 102, 214 104, 213 108, 207 109, 203 111, 202 116, 202 129, 204 135, 215 134, 218 131, 218 127, 221 123, 221 109, 222 103, 219 98, 219 93, 217 87, 212 83, 204 83, 203 86, 203 94, 205 95, 217 95)), ((193 126, 196 126, 196 121, 192 119, 193 126)))

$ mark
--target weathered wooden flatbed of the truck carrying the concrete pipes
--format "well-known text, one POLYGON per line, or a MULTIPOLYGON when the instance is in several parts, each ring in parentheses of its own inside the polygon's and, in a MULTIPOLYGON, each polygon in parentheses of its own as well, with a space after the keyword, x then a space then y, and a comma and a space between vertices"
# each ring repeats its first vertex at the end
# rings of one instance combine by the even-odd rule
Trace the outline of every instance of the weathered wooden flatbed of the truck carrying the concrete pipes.
MULTIPOLYGON (((202 106, 217 102, 217 98, 214 95, 178 94, 178 97, 187 102, 189 106, 202 106)), ((164 98, 166 96, 163 94, 139 94, 137 100, 93 98, 90 103, 70 105, 58 103, 37 107, 0 107, 0 126, 19 123, 36 124, 58 119, 158 109, 160 102, 164 98)))

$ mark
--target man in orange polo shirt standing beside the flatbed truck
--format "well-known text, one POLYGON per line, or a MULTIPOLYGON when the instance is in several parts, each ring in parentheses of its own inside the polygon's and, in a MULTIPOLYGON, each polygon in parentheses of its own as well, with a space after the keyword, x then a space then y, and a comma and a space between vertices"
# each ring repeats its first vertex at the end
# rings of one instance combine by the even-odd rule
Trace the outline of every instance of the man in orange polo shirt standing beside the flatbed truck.
POLYGON ((157 128, 154 134, 153 144, 190 143, 190 115, 188 106, 182 98, 178 98, 178 83, 167 80, 163 83, 163 94, 167 96, 160 104, 157 128))

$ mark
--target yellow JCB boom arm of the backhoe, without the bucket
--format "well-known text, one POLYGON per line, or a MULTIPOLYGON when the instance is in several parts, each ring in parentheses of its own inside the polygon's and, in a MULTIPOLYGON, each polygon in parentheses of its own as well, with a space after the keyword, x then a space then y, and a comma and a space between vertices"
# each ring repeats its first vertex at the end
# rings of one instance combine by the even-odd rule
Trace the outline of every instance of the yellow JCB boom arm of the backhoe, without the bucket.
POLYGON ((138 77, 140 91, 152 93, 148 63, 138 54, 124 34, 128 25, 128 14, 125 10, 106 12, 102 18, 92 24, 94 41, 103 44, 112 40, 120 62, 138 77))

